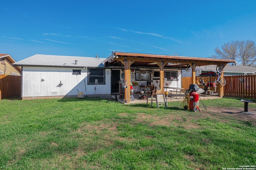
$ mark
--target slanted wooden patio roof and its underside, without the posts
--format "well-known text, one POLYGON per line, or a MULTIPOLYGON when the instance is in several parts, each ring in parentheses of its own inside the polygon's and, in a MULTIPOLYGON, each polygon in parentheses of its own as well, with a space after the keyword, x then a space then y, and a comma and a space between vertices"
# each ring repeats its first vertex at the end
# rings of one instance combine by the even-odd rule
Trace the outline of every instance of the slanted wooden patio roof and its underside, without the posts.
POLYGON ((166 63, 164 68, 179 68, 185 69, 187 65, 195 63, 196 66, 203 65, 222 65, 226 66, 228 63, 235 63, 236 60, 230 59, 213 59, 213 58, 199 58, 199 57, 184 57, 173 55, 155 55, 144 53, 125 53, 125 52, 112 52, 112 55, 105 60, 107 66, 110 67, 124 67, 124 59, 132 61, 131 67, 146 67, 146 68, 159 68, 158 63, 162 61, 166 63))

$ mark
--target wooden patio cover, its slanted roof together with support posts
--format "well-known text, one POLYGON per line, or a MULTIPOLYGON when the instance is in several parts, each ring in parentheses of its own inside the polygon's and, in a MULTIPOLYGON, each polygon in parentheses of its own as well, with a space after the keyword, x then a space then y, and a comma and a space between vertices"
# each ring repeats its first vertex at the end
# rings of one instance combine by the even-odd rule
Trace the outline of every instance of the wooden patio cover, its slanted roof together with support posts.
MULTIPOLYGON (((124 68, 124 82, 127 90, 124 93, 124 102, 130 103, 131 67, 135 68, 157 68, 160 70, 160 89, 164 90, 164 69, 186 69, 192 68, 192 83, 196 84, 196 66, 221 65, 223 68, 228 63, 235 63, 236 60, 212 59, 200 57, 184 57, 173 55, 155 55, 145 53, 114 52, 105 60, 105 67, 124 68)), ((223 77, 223 71, 222 75, 223 77)), ((219 97, 223 97, 223 87, 219 86, 219 97)))

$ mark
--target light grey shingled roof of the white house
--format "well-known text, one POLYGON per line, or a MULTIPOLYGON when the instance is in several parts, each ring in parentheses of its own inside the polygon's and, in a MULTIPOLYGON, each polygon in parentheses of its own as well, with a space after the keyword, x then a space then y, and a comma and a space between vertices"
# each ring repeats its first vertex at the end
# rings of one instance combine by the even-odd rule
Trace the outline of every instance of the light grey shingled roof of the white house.
POLYGON ((77 57, 64 55, 42 55, 36 54, 16 63, 14 66, 36 66, 36 67, 104 67, 106 58, 99 57, 77 57), (77 60, 77 61, 76 61, 77 60))

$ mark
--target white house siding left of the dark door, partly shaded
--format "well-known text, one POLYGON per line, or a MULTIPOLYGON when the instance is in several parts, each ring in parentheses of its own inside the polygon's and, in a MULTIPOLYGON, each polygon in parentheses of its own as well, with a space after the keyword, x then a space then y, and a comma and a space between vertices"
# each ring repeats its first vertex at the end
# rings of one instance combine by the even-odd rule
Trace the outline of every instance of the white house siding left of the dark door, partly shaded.
MULTIPOLYGON (((72 75, 73 69, 80 68, 23 67, 22 97, 77 96, 78 91, 84 95, 95 95, 95 85, 87 84, 88 70, 81 69, 81 75, 72 75)), ((106 75, 105 84, 97 85, 96 95, 110 95, 110 80, 110 75, 106 75)))

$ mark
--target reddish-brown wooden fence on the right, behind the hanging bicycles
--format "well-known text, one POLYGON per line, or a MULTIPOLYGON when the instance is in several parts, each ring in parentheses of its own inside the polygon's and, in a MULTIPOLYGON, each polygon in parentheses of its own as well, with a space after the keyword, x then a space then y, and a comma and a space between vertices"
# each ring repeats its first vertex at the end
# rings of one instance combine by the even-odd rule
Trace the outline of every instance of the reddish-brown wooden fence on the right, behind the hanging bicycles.
MULTIPOLYGON (((226 78, 224 96, 256 99, 256 75, 228 75, 224 77, 226 78)), ((202 77, 196 77, 196 80, 199 81, 200 78, 202 77)), ((204 83, 214 82, 216 77, 203 77, 203 79, 204 83)), ((192 84, 191 77, 182 77, 182 88, 188 89, 190 84, 192 84)), ((211 87, 210 90, 218 93, 218 88, 211 87)))

